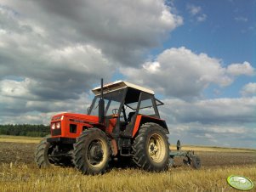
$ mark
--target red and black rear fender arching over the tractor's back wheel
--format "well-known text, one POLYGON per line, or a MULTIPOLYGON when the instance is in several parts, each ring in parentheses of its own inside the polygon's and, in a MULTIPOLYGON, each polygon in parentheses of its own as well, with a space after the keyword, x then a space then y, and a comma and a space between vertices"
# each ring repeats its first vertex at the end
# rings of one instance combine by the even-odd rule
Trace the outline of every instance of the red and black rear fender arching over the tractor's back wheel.
POLYGON ((158 119, 156 117, 153 117, 153 116, 143 116, 143 115, 138 115, 136 117, 136 121, 134 123, 134 131, 133 131, 133 135, 132 137, 134 138, 134 136, 136 135, 136 133, 138 133, 139 131, 139 127, 147 122, 153 122, 153 123, 156 123, 158 124, 159 126, 161 126, 163 129, 164 129, 164 132, 166 134, 169 133, 168 131, 168 127, 167 127, 167 124, 166 124, 166 121, 162 120, 162 119, 158 119))

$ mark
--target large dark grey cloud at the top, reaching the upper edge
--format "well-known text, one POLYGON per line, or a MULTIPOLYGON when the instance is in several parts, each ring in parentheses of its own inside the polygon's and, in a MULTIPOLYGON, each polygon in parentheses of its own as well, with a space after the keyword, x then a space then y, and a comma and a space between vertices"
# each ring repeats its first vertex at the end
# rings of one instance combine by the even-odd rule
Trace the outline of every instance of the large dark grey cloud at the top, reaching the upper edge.
POLYGON ((50 44, 94 44, 122 64, 136 65, 148 48, 182 25, 163 0, 129 1, 8 1, 25 23, 35 25, 50 44), (38 14, 41 13, 41 14, 38 14))

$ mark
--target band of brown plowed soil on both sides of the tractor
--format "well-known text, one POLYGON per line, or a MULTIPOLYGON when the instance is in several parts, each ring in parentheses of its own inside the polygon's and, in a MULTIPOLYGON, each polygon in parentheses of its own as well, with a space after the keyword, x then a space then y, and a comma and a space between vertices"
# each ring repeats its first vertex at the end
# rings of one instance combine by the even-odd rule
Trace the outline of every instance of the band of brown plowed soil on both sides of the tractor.
MULTIPOLYGON (((0 163, 33 163, 36 146, 37 144, 0 142, 0 163)), ((256 164, 256 153, 254 151, 196 151, 196 155, 201 158, 202 167, 229 167, 256 164)), ((175 158, 174 162, 175 167, 181 167, 183 164, 182 158, 180 157, 175 158)))

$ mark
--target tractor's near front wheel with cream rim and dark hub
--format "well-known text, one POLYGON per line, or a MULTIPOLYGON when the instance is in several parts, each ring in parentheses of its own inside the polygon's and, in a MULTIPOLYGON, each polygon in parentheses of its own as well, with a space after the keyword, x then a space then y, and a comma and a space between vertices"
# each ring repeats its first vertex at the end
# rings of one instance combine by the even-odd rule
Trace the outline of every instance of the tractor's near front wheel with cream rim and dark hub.
POLYGON ((102 174, 109 168, 111 145, 98 128, 82 132, 74 144, 73 163, 83 174, 102 174))

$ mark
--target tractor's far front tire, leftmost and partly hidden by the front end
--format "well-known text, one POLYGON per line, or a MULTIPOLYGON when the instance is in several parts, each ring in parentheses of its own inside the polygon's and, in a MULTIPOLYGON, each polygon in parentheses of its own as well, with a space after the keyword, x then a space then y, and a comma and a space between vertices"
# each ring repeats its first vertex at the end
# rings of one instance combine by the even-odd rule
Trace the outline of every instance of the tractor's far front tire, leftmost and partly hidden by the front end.
POLYGON ((48 154, 53 150, 53 146, 47 142, 47 138, 43 138, 39 144, 35 153, 35 161, 38 167, 50 167, 54 162, 48 159, 48 154))

